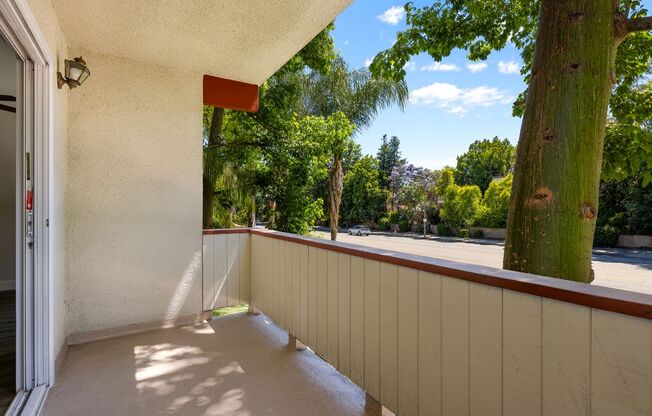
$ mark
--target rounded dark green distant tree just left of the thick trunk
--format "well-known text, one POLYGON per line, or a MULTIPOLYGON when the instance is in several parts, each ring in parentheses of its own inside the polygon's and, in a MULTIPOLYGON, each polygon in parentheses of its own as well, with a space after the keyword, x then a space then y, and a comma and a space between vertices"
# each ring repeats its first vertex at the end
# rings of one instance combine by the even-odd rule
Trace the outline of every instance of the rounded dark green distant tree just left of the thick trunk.
POLYGON ((516 147, 507 139, 476 140, 457 157, 455 179, 460 185, 478 185, 484 193, 493 178, 507 175, 515 156, 516 147))

